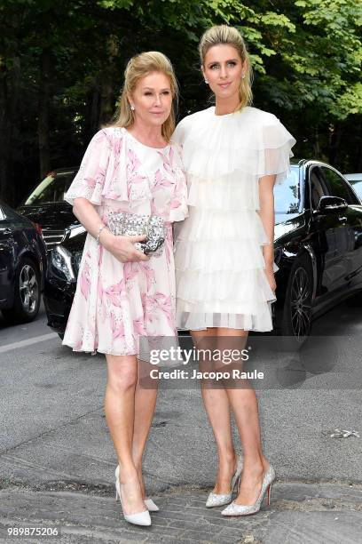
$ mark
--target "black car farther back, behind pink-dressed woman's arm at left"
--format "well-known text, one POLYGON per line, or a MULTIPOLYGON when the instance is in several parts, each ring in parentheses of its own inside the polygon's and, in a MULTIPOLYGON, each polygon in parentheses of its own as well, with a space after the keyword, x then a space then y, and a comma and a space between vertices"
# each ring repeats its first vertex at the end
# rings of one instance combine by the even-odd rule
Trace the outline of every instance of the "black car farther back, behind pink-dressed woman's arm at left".
POLYGON ((60 244, 65 229, 79 225, 72 206, 64 200, 77 168, 61 168, 50 172, 19 206, 18 212, 42 227, 48 250, 60 244))

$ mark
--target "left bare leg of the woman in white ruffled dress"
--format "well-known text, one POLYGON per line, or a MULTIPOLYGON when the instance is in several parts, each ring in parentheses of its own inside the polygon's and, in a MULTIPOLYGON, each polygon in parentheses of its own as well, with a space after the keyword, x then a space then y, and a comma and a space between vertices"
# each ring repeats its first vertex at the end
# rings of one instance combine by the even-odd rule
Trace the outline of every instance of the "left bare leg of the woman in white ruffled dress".
MULTIPOLYGON (((207 331, 191 331, 194 345, 199 349, 213 349, 216 340, 216 329, 207 331)), ((210 370, 211 362, 200 360, 199 367, 201 372, 210 370)), ((212 388, 208 380, 201 380, 201 393, 208 414, 209 421, 215 436, 218 455, 218 470, 216 475, 216 484, 213 492, 228 493, 232 481, 232 475, 235 471, 236 456, 232 444, 232 426, 230 420, 229 398, 222 386, 212 388)))

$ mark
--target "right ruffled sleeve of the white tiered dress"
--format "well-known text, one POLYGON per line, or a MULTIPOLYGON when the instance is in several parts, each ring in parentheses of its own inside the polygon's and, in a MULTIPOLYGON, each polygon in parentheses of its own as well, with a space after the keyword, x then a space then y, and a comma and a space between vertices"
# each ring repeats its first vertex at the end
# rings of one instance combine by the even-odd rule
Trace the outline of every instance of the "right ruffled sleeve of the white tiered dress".
POLYGON ((281 184, 290 171, 289 159, 293 156, 295 138, 280 123, 276 116, 270 116, 262 131, 262 154, 260 177, 275 174, 276 184, 281 184))

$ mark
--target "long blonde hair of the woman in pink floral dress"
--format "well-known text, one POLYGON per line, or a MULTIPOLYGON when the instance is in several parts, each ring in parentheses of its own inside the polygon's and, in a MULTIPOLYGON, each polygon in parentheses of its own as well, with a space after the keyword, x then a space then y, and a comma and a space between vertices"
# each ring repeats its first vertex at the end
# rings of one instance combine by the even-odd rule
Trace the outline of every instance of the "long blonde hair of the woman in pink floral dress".
POLYGON ((136 89, 138 81, 153 72, 161 72, 169 77, 169 86, 173 98, 172 108, 169 117, 161 126, 163 138, 166 141, 169 141, 175 130, 175 102, 177 103, 178 87, 175 72, 170 60, 166 55, 158 51, 142 52, 129 60, 127 67, 124 70, 124 84, 118 108, 115 112, 113 123, 108 124, 107 126, 122 126, 124 128, 129 128, 134 124, 135 112, 130 109, 129 96, 131 96, 132 92, 136 89))

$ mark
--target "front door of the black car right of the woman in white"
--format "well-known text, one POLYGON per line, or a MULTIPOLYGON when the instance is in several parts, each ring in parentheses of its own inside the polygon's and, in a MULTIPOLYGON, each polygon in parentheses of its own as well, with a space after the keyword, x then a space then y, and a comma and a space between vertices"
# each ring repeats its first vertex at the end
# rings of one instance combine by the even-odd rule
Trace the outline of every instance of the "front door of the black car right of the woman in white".
POLYGON ((323 176, 319 164, 312 164, 309 169, 309 186, 311 200, 311 234, 314 251, 318 260, 317 297, 323 300, 338 287, 337 277, 340 276, 340 256, 337 252, 335 229, 338 218, 334 213, 320 212, 319 200, 329 196, 327 180, 323 176))

